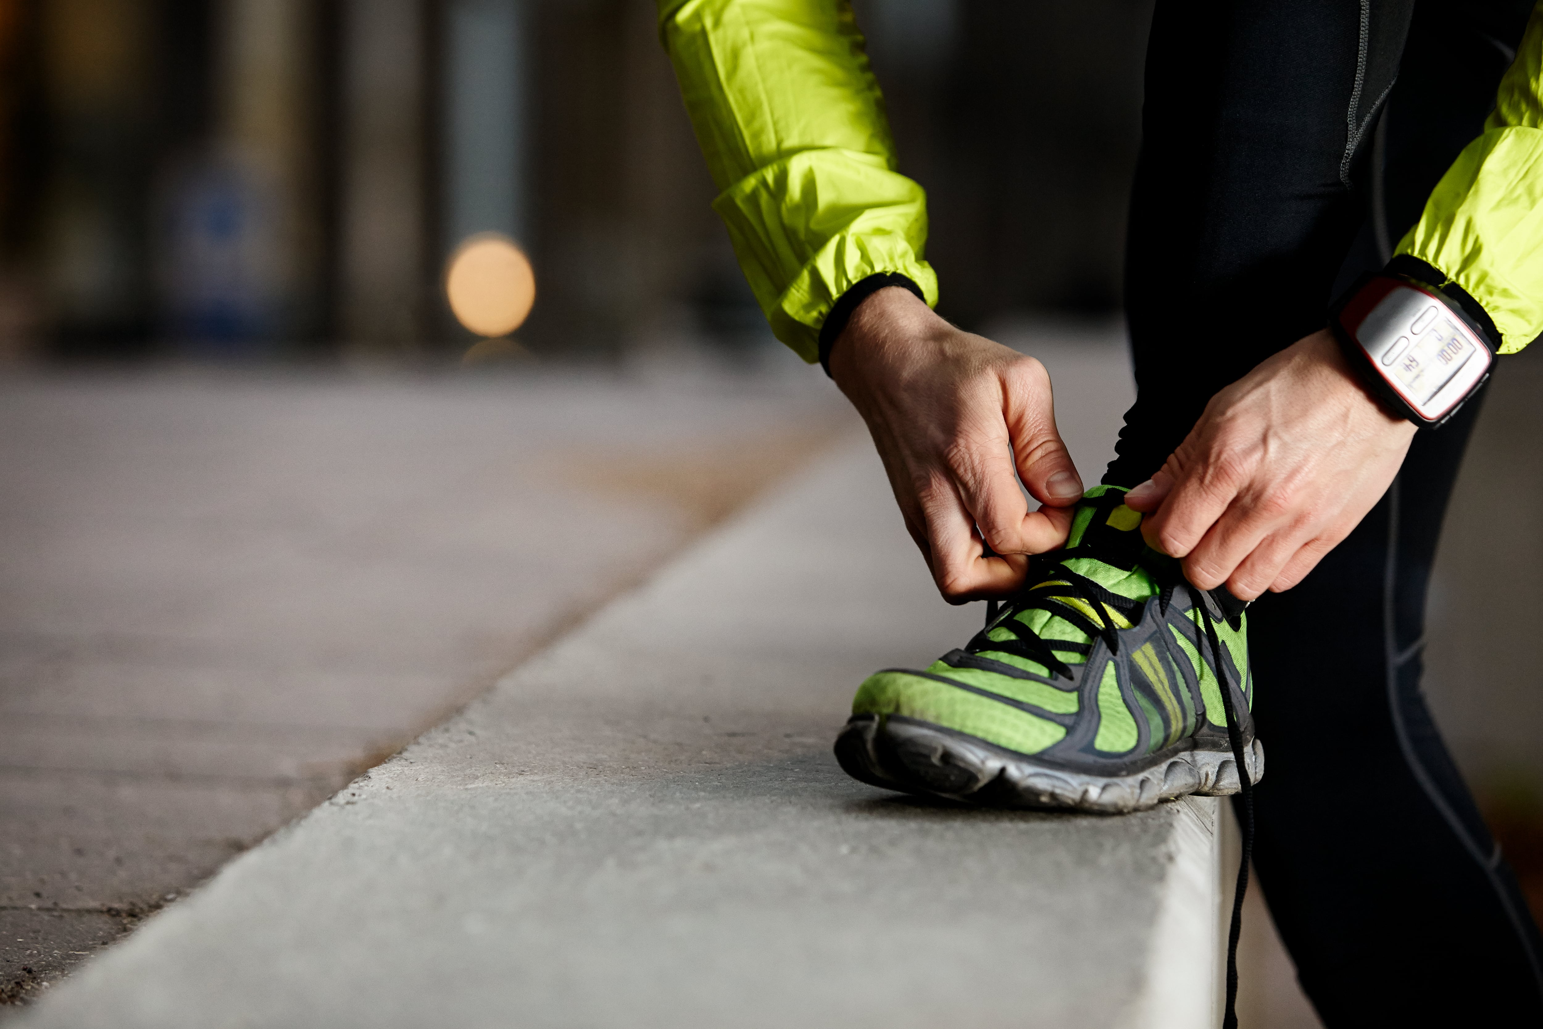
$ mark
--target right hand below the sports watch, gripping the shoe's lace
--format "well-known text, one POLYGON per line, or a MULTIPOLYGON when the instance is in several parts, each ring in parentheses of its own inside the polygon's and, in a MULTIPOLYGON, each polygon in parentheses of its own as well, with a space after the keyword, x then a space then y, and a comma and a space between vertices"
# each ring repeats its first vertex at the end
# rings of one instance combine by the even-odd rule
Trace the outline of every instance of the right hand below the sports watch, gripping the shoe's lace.
POLYGON ((1298 339, 1211 398, 1162 471, 1125 503, 1146 543, 1200 589, 1290 589, 1359 525, 1415 426, 1356 381, 1329 330, 1298 339))

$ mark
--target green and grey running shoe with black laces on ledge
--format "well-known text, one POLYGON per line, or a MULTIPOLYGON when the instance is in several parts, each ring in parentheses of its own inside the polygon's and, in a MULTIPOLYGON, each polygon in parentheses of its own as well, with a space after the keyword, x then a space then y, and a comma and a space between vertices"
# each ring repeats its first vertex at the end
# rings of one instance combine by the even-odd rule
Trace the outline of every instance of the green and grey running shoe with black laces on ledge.
POLYGON ((1185 582, 1123 497, 1089 491, 1066 549, 1035 557, 964 649, 870 676, 841 767, 890 790, 1086 811, 1236 793, 1239 756, 1258 782, 1245 605, 1185 582))

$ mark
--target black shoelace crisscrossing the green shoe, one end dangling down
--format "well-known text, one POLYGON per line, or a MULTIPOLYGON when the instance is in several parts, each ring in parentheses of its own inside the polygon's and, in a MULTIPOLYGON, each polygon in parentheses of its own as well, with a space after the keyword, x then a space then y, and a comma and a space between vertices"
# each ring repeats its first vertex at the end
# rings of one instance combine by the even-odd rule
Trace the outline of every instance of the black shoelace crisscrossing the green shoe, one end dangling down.
MULTIPOLYGON (((1097 554, 1089 552, 1089 548, 1079 549, 1082 552, 1077 554, 1077 557, 1099 557, 1097 554)), ((1071 666, 1058 659, 1054 651, 1058 649, 1088 654, 1092 648, 1088 643, 1040 639, 1040 636, 1029 629, 1029 626, 1012 617, 1021 611, 1043 609, 1055 614, 1055 617, 1071 622, 1079 629, 1086 633, 1089 639, 1102 639, 1109 648, 1109 653, 1117 654, 1120 651, 1119 628, 1109 619, 1108 609, 1113 608, 1114 611, 1119 611, 1126 622, 1134 623, 1139 617, 1140 603, 1111 592, 1091 579, 1071 571, 1062 563, 1068 557, 1068 551, 1042 555, 1031 565, 1029 569, 1031 582, 1038 580, 1037 585, 1029 586, 1004 605, 997 600, 988 600, 986 626, 975 634, 964 649, 971 654, 978 654, 986 649, 1014 654, 1043 665, 1052 676, 1072 679, 1071 666), (1082 600, 1088 605, 1089 611, 1099 616, 1097 623, 1083 616, 1083 612, 1077 608, 1066 605, 1065 600, 1055 603, 1055 597, 1082 600), (1006 617, 998 620, 1003 609, 1006 609, 1006 617), (1006 629, 1012 633, 1014 639, 994 640, 991 639, 992 629, 1006 629)), ((1233 890, 1233 916, 1227 930, 1227 1010, 1222 1015, 1222 1029, 1237 1029, 1237 940, 1244 926, 1244 895, 1248 892, 1248 862, 1253 859, 1253 776, 1248 774, 1248 764, 1244 759, 1244 736, 1237 724, 1237 710, 1233 705, 1231 683, 1227 680, 1227 660, 1222 649, 1222 637, 1216 631, 1216 616, 1211 614, 1211 608, 1207 603, 1204 591, 1191 586, 1188 582, 1170 582, 1157 594, 1159 609, 1163 614, 1168 612, 1168 605, 1173 602, 1173 595, 1180 586, 1190 591, 1190 602, 1200 614, 1200 628, 1204 629, 1205 640, 1211 648, 1216 682, 1219 685, 1219 693, 1222 694, 1222 711, 1227 716, 1227 742, 1233 751, 1233 764, 1237 768, 1237 784, 1244 799, 1242 859, 1237 862, 1237 887, 1233 890)))

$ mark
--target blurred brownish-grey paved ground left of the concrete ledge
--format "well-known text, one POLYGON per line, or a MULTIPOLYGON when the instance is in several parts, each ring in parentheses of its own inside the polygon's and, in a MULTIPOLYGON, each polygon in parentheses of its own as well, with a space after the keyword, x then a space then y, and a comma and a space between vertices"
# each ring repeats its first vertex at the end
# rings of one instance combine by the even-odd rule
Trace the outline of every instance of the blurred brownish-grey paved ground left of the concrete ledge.
POLYGON ((0 380, 0 997, 56 981, 853 424, 787 364, 0 380))

